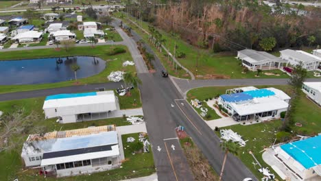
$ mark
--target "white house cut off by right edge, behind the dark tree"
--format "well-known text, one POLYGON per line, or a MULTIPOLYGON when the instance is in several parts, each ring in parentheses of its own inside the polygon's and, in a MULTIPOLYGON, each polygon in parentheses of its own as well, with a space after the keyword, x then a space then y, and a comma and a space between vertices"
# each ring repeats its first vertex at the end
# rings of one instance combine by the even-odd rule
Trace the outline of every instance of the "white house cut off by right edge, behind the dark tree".
POLYGON ((280 58, 287 60, 287 64, 295 66, 296 64, 302 62, 303 68, 307 69, 307 71, 314 71, 318 69, 318 66, 321 62, 321 58, 313 56, 311 53, 307 53, 305 51, 285 49, 280 51, 280 53, 280 58))

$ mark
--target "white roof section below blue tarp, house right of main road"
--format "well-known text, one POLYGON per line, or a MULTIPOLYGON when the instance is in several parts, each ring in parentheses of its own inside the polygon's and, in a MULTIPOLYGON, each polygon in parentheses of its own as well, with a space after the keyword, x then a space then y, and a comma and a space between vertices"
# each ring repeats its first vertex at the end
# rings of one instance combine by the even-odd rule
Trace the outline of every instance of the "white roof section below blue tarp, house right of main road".
POLYGON ((255 98, 243 104, 231 103, 230 106, 240 116, 285 109, 289 104, 276 96, 255 98))

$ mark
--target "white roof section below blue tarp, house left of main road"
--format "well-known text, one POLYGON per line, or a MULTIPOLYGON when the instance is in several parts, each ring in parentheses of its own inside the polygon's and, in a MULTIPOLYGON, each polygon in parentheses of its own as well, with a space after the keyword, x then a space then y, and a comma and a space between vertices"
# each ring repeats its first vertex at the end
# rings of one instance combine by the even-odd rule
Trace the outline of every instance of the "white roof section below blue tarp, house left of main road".
POLYGON ((91 104, 115 104, 115 93, 112 90, 97 92, 97 95, 86 97, 71 97, 65 99, 49 99, 43 104, 43 109, 46 108, 62 108, 69 106, 83 106, 91 104))

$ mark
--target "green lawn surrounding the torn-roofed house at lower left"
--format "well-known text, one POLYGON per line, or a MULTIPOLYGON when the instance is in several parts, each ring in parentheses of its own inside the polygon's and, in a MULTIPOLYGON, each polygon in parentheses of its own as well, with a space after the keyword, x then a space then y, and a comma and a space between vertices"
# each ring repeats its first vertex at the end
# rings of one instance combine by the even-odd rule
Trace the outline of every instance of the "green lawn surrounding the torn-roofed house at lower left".
MULTIPOLYGON (((5 167, 0 167, 0 180, 14 180, 18 177, 19 180, 46 180, 41 176, 36 176, 35 171, 23 172, 22 160, 20 157, 21 148, 23 142, 27 138, 28 134, 35 134, 41 132, 52 132, 54 130, 73 130, 78 128, 88 128, 88 126, 99 126, 99 125, 110 125, 115 124, 117 126, 130 125, 123 117, 113 119, 103 119, 98 121, 85 121, 80 123, 67 123, 60 124, 56 123, 56 119, 45 120, 43 114, 43 101, 44 97, 32 98, 32 99, 21 99, 14 101, 2 101, 0 102, 0 110, 5 114, 9 112, 17 112, 23 109, 23 117, 27 117, 32 114, 33 117, 27 119, 24 122, 24 131, 19 134, 13 134, 8 140, 14 141, 17 146, 10 149, 9 151, 0 152, 0 162, 5 164, 5 167)), ((121 101, 121 100, 120 100, 121 101)), ((3 124, 0 122, 0 134, 3 132, 3 124)), ((138 134, 124 135, 123 139, 126 140, 128 136, 134 136, 138 141, 138 134)), ((0 138, 0 141, 3 141, 0 138)), ((128 143, 123 142, 123 145, 127 147, 128 143)), ((132 146, 132 145, 130 145, 132 146)), ((128 147, 127 147, 128 148, 128 147)), ((154 173, 154 162, 152 153, 148 154, 131 154, 133 150, 125 149, 126 158, 128 161, 123 163, 123 168, 106 171, 103 173, 95 173, 91 176, 78 176, 72 178, 63 178, 60 180, 121 180, 127 178, 134 178, 140 176, 147 176, 154 173), (126 152, 128 150, 128 152, 126 152), (136 173, 132 173, 135 170, 136 173)), ((49 178, 47 180, 54 180, 49 178)))

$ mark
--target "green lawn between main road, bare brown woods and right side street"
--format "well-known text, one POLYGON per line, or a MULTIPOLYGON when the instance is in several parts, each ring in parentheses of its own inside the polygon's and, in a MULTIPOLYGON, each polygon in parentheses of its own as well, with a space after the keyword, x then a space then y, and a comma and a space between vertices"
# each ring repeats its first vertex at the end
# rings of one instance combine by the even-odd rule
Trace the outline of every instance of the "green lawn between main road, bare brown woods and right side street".
MULTIPOLYGON (((115 14, 117 17, 121 17, 120 14, 115 14)), ((126 16, 123 16, 126 17, 126 16)), ((123 21, 128 22, 128 20, 123 18, 123 21)), ((137 21, 139 25, 140 22, 137 21)), ((143 28, 148 31, 148 23, 142 23, 143 28)), ((131 27, 136 31, 134 25, 131 27)), ((165 47, 174 52, 174 38, 169 36, 169 33, 164 32, 162 29, 158 29, 158 31, 163 34, 163 38, 165 38, 165 47)), ((145 41, 147 34, 143 35, 142 31, 136 31, 138 34, 143 36, 145 41)), ((272 72, 278 73, 280 76, 276 75, 263 75, 261 74, 259 77, 255 77, 256 72, 248 72, 246 74, 241 73, 243 71, 240 61, 235 58, 235 56, 226 56, 221 55, 219 53, 211 53, 206 50, 200 50, 198 53, 197 49, 192 45, 187 44, 184 40, 178 38, 176 41, 176 45, 178 47, 177 51, 186 54, 185 58, 178 58, 180 63, 189 69, 189 71, 193 72, 194 75, 199 75, 198 79, 213 79, 213 78, 286 78, 289 77, 285 73, 279 70, 272 71, 264 71, 264 72, 272 72), (198 60, 198 68, 196 68, 196 60, 198 60), (197 69, 197 70, 196 70, 197 69)), ((162 61, 165 62, 164 60, 162 61)))

